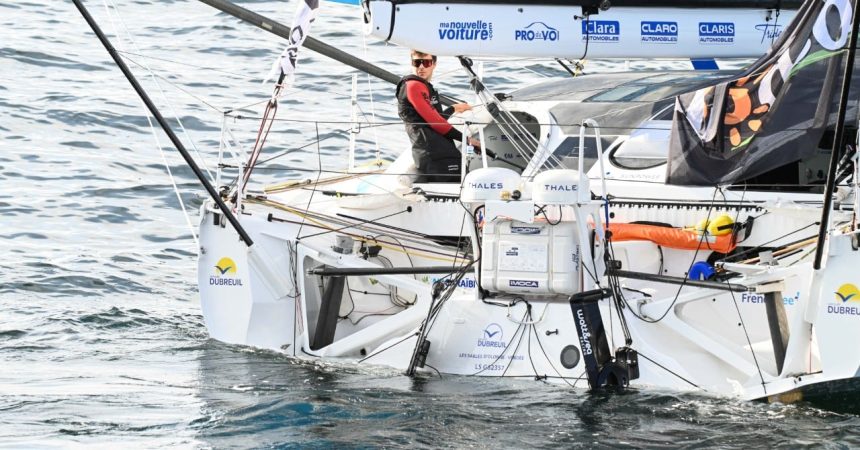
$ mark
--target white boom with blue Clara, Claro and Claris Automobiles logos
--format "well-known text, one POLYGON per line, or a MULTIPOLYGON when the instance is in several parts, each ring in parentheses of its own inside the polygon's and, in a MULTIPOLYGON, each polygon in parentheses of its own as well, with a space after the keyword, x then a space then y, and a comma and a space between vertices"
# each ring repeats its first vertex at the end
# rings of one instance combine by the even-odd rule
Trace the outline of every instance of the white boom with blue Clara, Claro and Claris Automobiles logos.
POLYGON ((435 55, 757 58, 797 0, 363 0, 365 33, 435 55))

